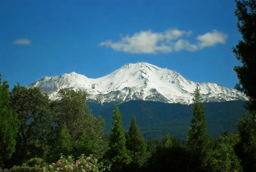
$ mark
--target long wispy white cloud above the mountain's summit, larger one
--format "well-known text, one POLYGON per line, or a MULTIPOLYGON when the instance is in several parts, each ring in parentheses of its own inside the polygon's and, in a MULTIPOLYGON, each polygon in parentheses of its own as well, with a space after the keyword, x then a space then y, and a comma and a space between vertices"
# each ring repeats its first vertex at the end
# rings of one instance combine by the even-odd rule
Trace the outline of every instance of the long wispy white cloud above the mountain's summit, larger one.
POLYGON ((196 43, 190 43, 187 38, 192 31, 181 31, 178 29, 167 29, 164 32, 140 31, 132 36, 123 37, 117 42, 107 40, 101 42, 100 46, 110 47, 115 51, 137 54, 170 53, 173 51, 198 51, 216 44, 225 44, 228 36, 217 30, 198 35, 196 43), (183 37, 183 39, 181 39, 183 37), (184 38, 185 37, 185 38, 184 38))

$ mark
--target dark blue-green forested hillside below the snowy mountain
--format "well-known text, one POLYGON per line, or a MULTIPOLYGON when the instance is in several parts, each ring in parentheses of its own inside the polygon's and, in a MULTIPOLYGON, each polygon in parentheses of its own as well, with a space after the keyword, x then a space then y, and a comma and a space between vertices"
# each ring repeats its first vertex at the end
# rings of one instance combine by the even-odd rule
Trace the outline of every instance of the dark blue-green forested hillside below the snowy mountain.
MULTIPOLYGON (((206 106, 207 132, 211 137, 219 137, 225 130, 236 133, 235 124, 242 117, 245 101, 227 101, 204 103, 206 106)), ((101 115, 106 122, 106 133, 110 132, 111 116, 114 103, 103 105, 88 102, 92 114, 101 115)), ((119 104, 123 115, 122 124, 125 130, 130 124, 131 114, 137 119, 137 124, 145 139, 158 139, 170 133, 173 136, 186 138, 192 105, 179 103, 162 103, 154 101, 133 100, 119 104)))

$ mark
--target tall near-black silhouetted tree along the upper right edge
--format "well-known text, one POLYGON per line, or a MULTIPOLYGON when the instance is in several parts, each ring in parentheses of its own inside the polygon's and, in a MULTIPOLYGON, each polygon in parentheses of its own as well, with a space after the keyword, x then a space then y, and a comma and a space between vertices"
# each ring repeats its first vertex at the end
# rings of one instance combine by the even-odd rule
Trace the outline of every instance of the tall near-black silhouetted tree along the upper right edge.
POLYGON ((238 41, 232 48, 236 59, 242 66, 235 66, 239 83, 235 88, 244 92, 249 97, 249 109, 256 110, 256 1, 236 0, 235 16, 238 19, 237 29, 242 34, 243 40, 238 41))

